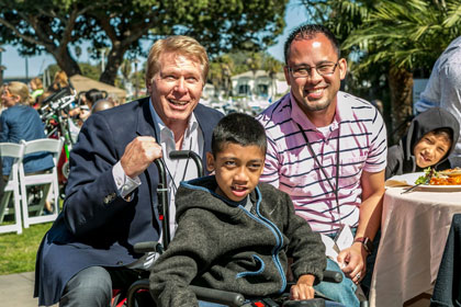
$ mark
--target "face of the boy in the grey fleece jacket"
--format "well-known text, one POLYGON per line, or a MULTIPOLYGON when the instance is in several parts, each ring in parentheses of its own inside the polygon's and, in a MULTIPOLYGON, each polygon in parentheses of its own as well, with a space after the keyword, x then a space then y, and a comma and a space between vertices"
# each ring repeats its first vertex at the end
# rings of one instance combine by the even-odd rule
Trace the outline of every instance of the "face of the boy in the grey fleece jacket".
POLYGON ((265 154, 256 145, 244 147, 228 143, 216 157, 206 152, 206 163, 209 171, 215 172, 216 193, 240 202, 258 184, 265 167, 265 154))

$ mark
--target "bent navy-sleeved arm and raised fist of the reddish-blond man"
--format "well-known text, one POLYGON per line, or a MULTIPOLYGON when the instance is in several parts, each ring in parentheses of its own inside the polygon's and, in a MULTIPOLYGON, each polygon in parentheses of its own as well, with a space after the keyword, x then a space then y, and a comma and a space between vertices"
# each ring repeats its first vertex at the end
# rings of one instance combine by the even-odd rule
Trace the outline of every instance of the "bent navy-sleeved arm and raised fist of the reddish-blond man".
MULTIPOLYGON (((113 223, 115 216, 127 206, 135 205, 117 194, 112 168, 119 160, 125 160, 127 155, 148 151, 142 148, 143 141, 138 138, 131 141, 124 150, 123 147, 116 149, 121 136, 114 135, 105 117, 93 114, 86 122, 79 143, 70 154, 71 171, 63 211, 66 226, 74 235, 88 236, 94 229, 113 223)), ((133 159, 126 160, 131 162, 128 164, 147 164, 133 162, 133 159)), ((122 161, 122 167, 123 164, 122 161)), ((139 169, 134 173, 130 170, 125 170, 127 175, 139 173, 139 169)))

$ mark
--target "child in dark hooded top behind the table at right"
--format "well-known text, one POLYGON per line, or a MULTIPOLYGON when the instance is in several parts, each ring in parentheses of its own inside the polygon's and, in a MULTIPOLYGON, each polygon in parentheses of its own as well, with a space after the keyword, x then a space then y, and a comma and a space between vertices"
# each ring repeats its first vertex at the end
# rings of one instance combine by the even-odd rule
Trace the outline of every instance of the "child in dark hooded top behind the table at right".
POLYGON ((389 148, 385 179, 428 167, 450 168, 447 159, 459 135, 460 124, 443 109, 432 107, 419 114, 412 121, 407 135, 389 148))

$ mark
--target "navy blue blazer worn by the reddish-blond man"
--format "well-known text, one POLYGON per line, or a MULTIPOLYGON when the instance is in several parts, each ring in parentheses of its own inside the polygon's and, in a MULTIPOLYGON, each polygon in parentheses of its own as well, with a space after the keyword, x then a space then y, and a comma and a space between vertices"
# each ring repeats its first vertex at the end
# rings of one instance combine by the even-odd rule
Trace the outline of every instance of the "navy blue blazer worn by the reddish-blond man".
MULTIPOLYGON (((194 115, 204 134, 205 161, 212 130, 223 114, 199 104, 194 115)), ((156 136, 156 130, 148 98, 94 113, 85 123, 70 152, 64 209, 37 252, 34 296, 40 305, 56 304, 81 270, 127 265, 142 257, 133 251, 135 243, 159 239, 155 163, 139 175, 142 184, 131 202, 117 194, 112 175, 128 143, 137 136, 156 136)))

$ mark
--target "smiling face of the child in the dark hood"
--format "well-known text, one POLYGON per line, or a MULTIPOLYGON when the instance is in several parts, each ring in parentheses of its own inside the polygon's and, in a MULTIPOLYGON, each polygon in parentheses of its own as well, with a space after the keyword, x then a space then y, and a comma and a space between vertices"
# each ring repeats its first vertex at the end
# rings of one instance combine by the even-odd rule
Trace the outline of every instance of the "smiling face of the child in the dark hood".
POLYGON ((427 133, 413 149, 416 164, 425 169, 439 162, 450 150, 451 141, 443 135, 427 133))

